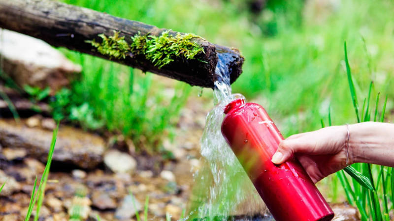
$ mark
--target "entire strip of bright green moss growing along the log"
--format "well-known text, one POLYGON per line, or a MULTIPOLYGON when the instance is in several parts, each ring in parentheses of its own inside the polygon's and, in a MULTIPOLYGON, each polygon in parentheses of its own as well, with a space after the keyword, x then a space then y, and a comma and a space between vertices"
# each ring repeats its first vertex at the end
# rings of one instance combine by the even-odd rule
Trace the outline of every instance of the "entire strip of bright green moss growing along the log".
POLYGON ((195 34, 187 33, 175 36, 169 35, 169 30, 164 31, 160 36, 138 34, 131 37, 132 43, 129 46, 124 37, 119 37, 118 32, 113 36, 99 34, 102 42, 95 40, 87 41, 97 48, 100 54, 109 55, 115 58, 126 58, 126 55, 144 55, 155 66, 161 68, 174 61, 176 58, 194 59, 198 53, 204 53, 203 47, 193 42, 193 38, 201 38, 195 34))

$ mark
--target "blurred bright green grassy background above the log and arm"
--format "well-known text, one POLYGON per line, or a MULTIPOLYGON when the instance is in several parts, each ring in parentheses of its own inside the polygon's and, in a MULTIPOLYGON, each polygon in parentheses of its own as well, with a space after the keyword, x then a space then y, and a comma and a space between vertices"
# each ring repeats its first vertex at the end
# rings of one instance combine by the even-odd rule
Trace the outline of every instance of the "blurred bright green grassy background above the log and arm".
MULTIPOLYGON (((329 105, 336 114, 333 124, 354 122, 342 52, 345 40, 358 82, 356 91, 366 97, 367 91, 361 88, 373 81, 374 92, 394 97, 390 91, 394 3, 389 0, 269 0, 258 13, 250 11, 250 0, 64 1, 240 49, 246 60, 233 92, 261 103, 286 136, 319 129, 329 105)), ((96 70, 111 66, 101 62, 102 67, 92 66, 96 70)), ((204 90, 204 96, 212 96, 210 89, 204 90)), ((390 99, 387 108, 393 108, 390 99)))

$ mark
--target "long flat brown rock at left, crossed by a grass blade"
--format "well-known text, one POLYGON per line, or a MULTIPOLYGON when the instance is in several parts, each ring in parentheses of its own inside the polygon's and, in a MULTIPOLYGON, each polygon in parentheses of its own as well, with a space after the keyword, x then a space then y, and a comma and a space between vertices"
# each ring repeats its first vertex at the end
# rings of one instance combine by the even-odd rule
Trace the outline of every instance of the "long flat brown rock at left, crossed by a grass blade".
MULTIPOLYGON (((24 148, 28 155, 41 162, 46 162, 51 140, 50 131, 23 127, 11 120, 0 120, 0 143, 3 146, 24 148)), ((94 168, 102 162, 103 152, 102 138, 64 126, 59 129, 53 161, 94 168)))

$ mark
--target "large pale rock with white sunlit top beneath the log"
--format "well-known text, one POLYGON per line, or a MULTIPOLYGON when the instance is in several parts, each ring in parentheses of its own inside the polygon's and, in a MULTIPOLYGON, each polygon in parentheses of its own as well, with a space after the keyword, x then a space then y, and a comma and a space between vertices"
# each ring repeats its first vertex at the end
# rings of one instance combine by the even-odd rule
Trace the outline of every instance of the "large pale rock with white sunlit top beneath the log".
POLYGON ((0 54, 4 72, 21 87, 49 85, 54 92, 68 85, 75 73, 81 71, 79 65, 44 41, 5 29, 0 54))

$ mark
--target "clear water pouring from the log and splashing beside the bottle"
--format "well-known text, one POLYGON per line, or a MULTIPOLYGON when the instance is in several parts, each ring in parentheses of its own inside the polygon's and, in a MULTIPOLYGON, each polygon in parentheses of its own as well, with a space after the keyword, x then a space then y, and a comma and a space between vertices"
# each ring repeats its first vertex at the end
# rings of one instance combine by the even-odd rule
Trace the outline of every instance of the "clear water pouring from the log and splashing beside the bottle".
POLYGON ((234 99, 244 99, 241 94, 231 94, 229 70, 223 60, 219 59, 215 70, 216 106, 206 116, 200 140, 203 166, 194 174, 195 186, 189 208, 191 212, 187 218, 190 220, 227 220, 239 215, 264 215, 267 211, 221 133, 226 105, 234 99))

